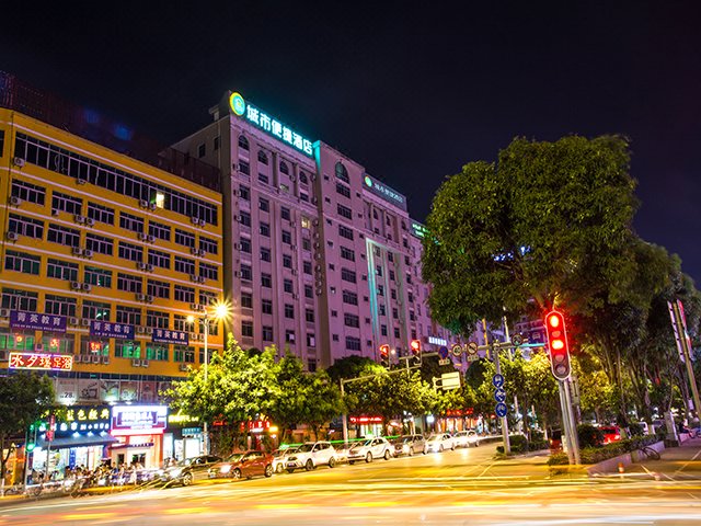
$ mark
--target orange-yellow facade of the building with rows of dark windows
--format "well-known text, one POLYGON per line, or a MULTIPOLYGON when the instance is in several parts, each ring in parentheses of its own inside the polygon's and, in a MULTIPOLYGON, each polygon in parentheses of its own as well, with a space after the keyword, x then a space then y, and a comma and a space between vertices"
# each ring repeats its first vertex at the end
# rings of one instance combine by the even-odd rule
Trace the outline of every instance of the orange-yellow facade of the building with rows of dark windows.
POLYGON ((0 108, 0 137, 2 367, 37 344, 74 354, 79 373, 179 377, 200 364, 203 328, 185 319, 221 298, 221 194, 14 111, 0 108), (10 310, 61 315, 68 328, 11 330, 10 310), (133 324, 135 342, 91 338, 90 320, 133 324), (153 343, 159 328, 187 332, 188 345, 153 343))

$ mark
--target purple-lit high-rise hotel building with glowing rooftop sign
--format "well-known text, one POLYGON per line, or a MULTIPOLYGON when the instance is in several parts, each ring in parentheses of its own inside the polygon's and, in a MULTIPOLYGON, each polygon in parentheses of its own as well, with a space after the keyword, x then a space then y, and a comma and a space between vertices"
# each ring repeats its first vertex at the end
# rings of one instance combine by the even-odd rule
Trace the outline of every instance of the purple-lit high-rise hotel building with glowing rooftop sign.
POLYGON ((244 347, 289 347, 309 370, 449 345, 421 281, 422 225, 406 197, 238 93, 173 145, 221 170, 223 287, 244 347))

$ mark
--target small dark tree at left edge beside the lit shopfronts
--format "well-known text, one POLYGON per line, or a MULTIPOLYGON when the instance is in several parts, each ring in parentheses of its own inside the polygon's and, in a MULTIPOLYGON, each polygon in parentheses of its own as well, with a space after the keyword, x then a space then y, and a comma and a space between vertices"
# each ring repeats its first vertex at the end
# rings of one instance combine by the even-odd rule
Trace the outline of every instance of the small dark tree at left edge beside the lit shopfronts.
POLYGON ((14 439, 24 439, 31 424, 54 405, 54 384, 34 371, 0 377, 0 477, 14 450, 14 439))

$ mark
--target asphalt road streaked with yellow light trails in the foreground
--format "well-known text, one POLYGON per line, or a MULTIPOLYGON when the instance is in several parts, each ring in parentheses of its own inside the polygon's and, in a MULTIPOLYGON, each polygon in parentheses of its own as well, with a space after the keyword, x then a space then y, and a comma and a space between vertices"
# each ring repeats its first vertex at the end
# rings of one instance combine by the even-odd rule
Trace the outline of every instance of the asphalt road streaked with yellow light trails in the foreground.
POLYGON ((272 479, 27 501, 0 508, 22 525, 701 524, 701 467, 551 478, 544 456, 492 459, 494 446, 272 479))

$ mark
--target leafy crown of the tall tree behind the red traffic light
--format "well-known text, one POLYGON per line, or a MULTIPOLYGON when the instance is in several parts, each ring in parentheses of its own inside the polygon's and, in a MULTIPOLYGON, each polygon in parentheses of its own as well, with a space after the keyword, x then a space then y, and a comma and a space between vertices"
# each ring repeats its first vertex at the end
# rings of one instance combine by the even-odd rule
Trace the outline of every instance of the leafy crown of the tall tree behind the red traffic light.
POLYGON ((486 318, 558 302, 586 310, 624 297, 636 201, 622 137, 515 139, 498 163, 472 162, 434 198, 423 277, 432 313, 469 334, 486 318))

